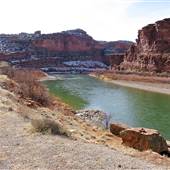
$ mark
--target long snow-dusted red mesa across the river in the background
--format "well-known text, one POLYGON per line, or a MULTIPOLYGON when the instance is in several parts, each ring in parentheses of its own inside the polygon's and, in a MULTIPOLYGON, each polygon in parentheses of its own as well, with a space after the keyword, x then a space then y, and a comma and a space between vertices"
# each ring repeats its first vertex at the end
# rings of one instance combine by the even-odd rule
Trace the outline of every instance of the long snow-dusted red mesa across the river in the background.
POLYGON ((100 61, 110 65, 122 62, 114 54, 127 51, 131 42, 96 41, 81 29, 53 34, 20 33, 0 35, 0 61, 19 67, 64 67, 66 61, 100 61), (114 61, 115 62, 114 62, 114 61))

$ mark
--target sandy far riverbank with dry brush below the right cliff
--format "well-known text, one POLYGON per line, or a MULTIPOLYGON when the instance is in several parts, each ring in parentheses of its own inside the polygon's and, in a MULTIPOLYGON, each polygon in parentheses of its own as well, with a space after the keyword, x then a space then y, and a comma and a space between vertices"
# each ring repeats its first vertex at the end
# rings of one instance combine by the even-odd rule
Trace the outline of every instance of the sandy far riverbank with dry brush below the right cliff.
POLYGON ((129 77, 128 75, 124 75, 124 76, 121 75, 120 77, 119 75, 115 77, 115 76, 111 76, 110 74, 103 74, 103 73, 101 74, 91 73, 89 75, 92 77, 98 78, 100 80, 104 80, 104 81, 119 85, 119 86, 170 95, 170 84, 168 84, 169 82, 168 78, 167 79, 166 78, 159 78, 159 79, 152 78, 151 81, 149 82, 148 77, 141 77, 140 79, 139 76, 137 76, 135 80, 135 77, 132 78, 132 76, 129 77))

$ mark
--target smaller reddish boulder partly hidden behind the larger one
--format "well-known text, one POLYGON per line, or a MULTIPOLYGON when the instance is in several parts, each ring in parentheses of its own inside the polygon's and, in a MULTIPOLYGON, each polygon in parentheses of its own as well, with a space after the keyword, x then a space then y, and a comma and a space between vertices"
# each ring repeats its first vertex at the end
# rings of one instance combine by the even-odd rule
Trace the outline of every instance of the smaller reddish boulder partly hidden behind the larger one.
POLYGON ((111 123, 110 124, 110 132, 114 135, 120 136, 120 132, 128 129, 129 127, 122 123, 111 123))

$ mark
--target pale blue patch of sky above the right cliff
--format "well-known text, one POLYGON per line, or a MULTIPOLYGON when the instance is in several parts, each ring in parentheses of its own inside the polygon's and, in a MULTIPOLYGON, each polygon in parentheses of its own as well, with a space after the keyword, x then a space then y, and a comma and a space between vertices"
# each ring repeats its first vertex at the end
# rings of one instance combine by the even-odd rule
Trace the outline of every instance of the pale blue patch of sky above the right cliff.
POLYGON ((126 11, 127 17, 135 23, 132 28, 135 33, 129 37, 133 40, 137 30, 157 20, 170 18, 170 0, 141 0, 131 3, 126 11))

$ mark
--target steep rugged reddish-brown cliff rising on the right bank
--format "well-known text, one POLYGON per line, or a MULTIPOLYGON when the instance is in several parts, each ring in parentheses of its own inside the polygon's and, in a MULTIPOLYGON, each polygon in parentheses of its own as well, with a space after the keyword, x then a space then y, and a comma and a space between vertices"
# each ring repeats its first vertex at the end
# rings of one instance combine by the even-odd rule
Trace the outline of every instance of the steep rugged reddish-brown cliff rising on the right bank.
POLYGON ((170 72, 170 18, 143 27, 121 68, 129 71, 170 72))

